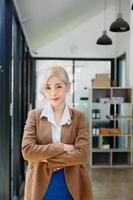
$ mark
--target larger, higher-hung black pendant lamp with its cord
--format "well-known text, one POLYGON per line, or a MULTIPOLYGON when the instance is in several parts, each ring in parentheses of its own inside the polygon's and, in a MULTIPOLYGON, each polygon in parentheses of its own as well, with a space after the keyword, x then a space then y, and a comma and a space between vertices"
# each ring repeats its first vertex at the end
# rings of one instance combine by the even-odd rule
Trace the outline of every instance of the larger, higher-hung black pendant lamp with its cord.
POLYGON ((117 14, 117 19, 110 26, 110 31, 112 32, 126 32, 130 30, 129 24, 122 18, 122 14, 120 13, 120 3, 121 0, 119 0, 119 13, 117 14))

